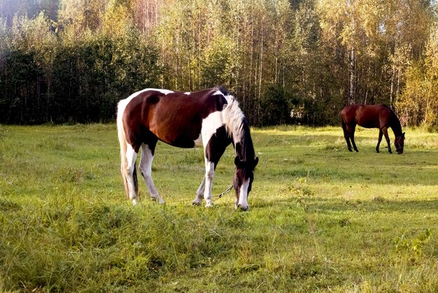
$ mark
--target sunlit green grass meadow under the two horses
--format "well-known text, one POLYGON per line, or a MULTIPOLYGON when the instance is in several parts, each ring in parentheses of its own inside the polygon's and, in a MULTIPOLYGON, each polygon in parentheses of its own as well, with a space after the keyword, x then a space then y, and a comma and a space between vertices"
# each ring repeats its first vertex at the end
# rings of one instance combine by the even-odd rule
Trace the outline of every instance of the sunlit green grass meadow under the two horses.
POLYGON ((253 129, 260 163, 236 212, 232 193, 192 207, 202 149, 159 143, 167 203, 140 182, 132 206, 115 125, 3 125, 0 292, 436 292, 438 135, 405 131, 400 156, 376 154, 377 130, 350 153, 340 127, 253 129))

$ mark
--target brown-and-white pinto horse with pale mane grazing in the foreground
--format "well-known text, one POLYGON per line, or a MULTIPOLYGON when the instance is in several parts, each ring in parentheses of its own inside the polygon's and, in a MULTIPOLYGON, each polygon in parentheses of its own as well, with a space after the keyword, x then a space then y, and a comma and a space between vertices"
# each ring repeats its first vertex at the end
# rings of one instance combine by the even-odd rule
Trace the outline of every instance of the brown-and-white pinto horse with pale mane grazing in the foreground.
POLYGON ((233 144, 236 209, 248 210, 248 193, 258 163, 248 120, 239 103, 225 88, 193 93, 148 88, 118 103, 118 138, 121 172, 127 196, 136 203, 138 184, 136 156, 141 149, 139 170, 153 200, 164 203, 152 181, 151 170, 158 139, 174 147, 204 147, 205 175, 193 205, 213 205, 211 184, 216 165, 226 147, 233 144))

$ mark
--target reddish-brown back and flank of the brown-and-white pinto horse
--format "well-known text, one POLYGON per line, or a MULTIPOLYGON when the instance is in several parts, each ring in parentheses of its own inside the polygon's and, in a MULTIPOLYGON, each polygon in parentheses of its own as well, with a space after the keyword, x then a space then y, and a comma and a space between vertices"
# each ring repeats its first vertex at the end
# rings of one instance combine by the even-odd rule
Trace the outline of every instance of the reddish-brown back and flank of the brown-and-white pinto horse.
POLYGON ((202 120, 227 103, 224 95, 213 95, 214 90, 182 93, 148 89, 128 97, 122 115, 130 139, 141 144, 144 132, 151 132, 167 144, 194 147, 202 120))

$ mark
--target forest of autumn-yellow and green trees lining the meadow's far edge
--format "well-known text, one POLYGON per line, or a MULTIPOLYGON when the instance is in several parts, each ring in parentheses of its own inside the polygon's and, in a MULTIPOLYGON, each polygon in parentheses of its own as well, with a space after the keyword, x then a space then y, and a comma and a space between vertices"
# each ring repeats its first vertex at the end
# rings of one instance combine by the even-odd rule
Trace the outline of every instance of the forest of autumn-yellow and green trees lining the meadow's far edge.
POLYGON ((0 0, 0 123, 91 123, 143 88, 227 87, 252 125, 392 105, 438 130, 433 0, 0 0))

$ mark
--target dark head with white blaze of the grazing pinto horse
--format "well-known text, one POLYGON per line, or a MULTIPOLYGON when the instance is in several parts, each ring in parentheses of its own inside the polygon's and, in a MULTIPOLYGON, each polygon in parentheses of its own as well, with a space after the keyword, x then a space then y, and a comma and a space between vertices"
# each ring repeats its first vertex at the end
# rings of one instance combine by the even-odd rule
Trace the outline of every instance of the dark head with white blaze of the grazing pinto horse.
POLYGON ((241 160, 236 156, 234 164, 236 164, 236 173, 234 173, 233 185, 236 190, 236 210, 238 207, 241 210, 248 210, 248 194, 251 191, 251 186, 254 180, 254 168, 259 162, 259 158, 251 160, 241 160))

